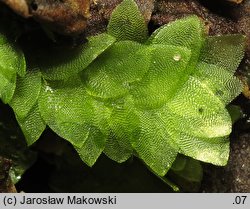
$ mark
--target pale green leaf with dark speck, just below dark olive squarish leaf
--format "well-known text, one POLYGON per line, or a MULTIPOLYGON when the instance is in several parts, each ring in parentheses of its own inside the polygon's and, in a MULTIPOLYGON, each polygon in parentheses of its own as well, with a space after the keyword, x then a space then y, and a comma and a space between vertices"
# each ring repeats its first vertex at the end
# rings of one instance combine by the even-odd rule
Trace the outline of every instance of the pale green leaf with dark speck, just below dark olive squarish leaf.
POLYGON ((205 62, 198 63, 195 76, 226 105, 243 89, 241 81, 227 70, 205 62))

